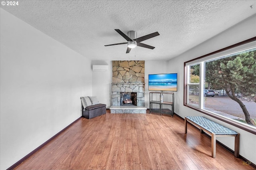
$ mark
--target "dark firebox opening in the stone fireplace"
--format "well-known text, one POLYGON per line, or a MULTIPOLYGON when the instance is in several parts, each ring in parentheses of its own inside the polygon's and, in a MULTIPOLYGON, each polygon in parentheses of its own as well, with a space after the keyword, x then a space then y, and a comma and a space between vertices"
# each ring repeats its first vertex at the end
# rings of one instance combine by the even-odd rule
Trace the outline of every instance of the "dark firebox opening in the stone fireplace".
POLYGON ((137 93, 136 92, 120 93, 120 106, 137 106, 137 93))

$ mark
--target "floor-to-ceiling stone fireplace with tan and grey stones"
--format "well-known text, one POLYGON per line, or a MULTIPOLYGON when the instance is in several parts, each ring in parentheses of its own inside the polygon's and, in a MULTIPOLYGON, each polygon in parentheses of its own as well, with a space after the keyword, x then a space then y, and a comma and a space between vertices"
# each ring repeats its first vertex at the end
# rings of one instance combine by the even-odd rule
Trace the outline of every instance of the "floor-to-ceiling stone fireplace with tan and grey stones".
POLYGON ((145 61, 112 61, 110 113, 146 113, 144 67, 145 61))

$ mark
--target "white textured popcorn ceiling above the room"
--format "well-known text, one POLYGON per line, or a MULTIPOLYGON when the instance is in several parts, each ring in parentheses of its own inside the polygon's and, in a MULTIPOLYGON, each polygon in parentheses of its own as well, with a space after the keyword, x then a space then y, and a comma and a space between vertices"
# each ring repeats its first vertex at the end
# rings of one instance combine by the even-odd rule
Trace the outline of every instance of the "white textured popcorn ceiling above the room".
MULTIPOLYGON (((2 0, 1 0, 2 2, 2 0)), ((255 0, 20 0, 4 10, 91 60, 168 60, 256 14, 255 0), (159 32, 126 54, 126 40, 159 32)))

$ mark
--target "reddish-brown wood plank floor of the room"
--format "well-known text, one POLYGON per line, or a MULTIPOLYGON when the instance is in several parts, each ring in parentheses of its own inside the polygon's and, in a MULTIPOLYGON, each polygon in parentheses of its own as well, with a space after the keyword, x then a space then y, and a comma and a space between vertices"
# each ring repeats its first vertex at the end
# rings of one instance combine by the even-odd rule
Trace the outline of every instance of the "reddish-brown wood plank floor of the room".
MULTIPOLYGON (((234 137, 230 137, 234 140, 234 137)), ((174 116, 110 114, 81 118, 16 170, 253 169, 174 116)))

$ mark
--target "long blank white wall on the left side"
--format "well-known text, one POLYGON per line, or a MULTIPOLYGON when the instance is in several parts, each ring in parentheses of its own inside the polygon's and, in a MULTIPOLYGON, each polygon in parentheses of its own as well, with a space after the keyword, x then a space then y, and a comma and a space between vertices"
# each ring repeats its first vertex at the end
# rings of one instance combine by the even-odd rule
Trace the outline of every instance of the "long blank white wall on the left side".
POLYGON ((0 169, 82 116, 92 95, 90 60, 1 8, 0 169))

